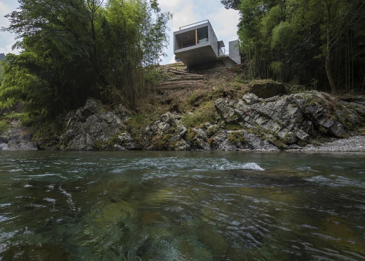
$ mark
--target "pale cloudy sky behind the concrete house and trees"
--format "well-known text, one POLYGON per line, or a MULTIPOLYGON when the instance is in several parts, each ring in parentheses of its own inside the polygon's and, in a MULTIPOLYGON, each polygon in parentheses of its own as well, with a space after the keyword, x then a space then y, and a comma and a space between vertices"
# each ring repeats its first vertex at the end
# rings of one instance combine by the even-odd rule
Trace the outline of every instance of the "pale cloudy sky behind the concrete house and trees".
MULTIPOLYGON (((172 20, 169 21, 168 35, 170 44, 166 50, 168 57, 163 58, 161 64, 174 62, 173 54, 173 32, 178 31, 179 27, 209 20, 218 37, 223 40, 228 49, 228 42, 237 40, 238 11, 226 10, 220 3, 220 0, 157 0, 161 11, 173 13, 172 20)), ((9 21, 4 15, 15 11, 18 7, 16 0, 0 0, 0 27, 9 26, 9 21)), ((16 42, 15 34, 0 31, 0 53, 18 53, 18 50, 12 50, 11 47, 16 42)))

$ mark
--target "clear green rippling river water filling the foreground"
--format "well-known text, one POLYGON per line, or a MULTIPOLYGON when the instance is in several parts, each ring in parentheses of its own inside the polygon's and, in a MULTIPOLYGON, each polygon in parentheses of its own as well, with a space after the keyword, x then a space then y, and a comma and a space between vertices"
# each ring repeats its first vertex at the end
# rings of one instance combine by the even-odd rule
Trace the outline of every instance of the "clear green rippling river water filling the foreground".
POLYGON ((0 260, 365 260, 364 153, 0 151, 0 260))

